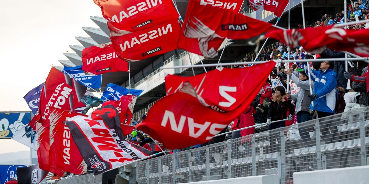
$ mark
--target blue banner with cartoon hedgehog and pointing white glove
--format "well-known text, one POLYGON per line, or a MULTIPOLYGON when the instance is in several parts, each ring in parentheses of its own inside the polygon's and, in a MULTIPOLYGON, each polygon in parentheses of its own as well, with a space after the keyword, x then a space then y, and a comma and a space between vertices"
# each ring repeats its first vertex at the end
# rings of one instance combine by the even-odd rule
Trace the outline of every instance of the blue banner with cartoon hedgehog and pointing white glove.
POLYGON ((31 112, 0 113, 0 138, 11 138, 18 130, 30 123, 31 112))

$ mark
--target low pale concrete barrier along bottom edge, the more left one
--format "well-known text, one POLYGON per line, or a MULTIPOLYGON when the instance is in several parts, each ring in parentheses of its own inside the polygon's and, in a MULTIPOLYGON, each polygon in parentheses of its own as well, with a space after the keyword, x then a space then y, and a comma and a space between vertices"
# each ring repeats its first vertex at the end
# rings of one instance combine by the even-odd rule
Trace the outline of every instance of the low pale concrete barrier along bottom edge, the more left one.
POLYGON ((277 175, 262 175, 248 176, 239 178, 230 178, 223 180, 196 181, 183 184, 279 184, 279 176, 277 175))

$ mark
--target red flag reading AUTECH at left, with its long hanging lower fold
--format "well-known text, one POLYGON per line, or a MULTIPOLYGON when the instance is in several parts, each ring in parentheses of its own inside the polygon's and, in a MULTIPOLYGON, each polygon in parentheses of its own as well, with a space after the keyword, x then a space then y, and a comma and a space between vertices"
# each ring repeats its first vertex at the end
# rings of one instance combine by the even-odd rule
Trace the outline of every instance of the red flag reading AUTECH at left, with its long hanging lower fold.
MULTIPOLYGON (((41 169, 50 171, 49 167, 49 116, 50 107, 73 111, 86 93, 87 88, 63 74, 56 68, 51 68, 39 101, 39 122, 37 123, 37 157, 41 169)), ((55 171, 56 172, 56 171, 55 171)))

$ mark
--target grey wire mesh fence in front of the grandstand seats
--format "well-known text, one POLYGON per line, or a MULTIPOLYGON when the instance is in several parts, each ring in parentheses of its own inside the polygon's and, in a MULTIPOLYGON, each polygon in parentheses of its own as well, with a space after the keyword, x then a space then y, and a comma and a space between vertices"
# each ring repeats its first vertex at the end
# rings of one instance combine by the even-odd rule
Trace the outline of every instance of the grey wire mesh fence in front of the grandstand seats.
MULTIPOLYGON (((274 130, 261 125, 252 135, 137 162, 137 182, 187 183, 276 174, 281 183, 293 183, 296 171, 366 165, 369 107, 323 115, 274 130)), ((90 175, 80 177, 67 183, 92 181, 90 175)))

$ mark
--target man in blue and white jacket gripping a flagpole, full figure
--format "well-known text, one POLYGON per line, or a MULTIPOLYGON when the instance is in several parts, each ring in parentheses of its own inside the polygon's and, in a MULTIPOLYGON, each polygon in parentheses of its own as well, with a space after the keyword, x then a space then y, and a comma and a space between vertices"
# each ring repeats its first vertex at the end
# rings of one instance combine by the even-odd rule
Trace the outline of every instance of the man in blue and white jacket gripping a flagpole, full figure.
MULTIPOLYGON (((305 66, 307 67, 307 66, 305 66)), ((336 106, 337 73, 333 71, 334 61, 323 61, 320 64, 320 71, 310 70, 311 78, 314 78, 314 90, 312 95, 308 95, 311 102, 310 109, 317 111, 318 118, 331 116, 334 114, 336 106)), ((323 139, 330 143, 332 138, 338 138, 338 130, 335 121, 320 122, 320 132, 323 139), (330 133, 331 132, 331 133, 330 133)))

